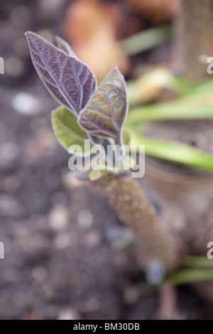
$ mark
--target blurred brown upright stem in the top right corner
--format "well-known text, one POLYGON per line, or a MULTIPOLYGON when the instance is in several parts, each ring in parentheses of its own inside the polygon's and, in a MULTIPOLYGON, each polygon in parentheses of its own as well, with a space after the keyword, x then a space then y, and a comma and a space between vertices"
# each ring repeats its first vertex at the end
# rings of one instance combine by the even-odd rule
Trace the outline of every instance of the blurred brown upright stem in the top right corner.
POLYGON ((207 74, 207 65, 199 56, 207 51, 211 5, 211 0, 180 0, 175 20, 175 68, 180 75, 194 82, 199 82, 207 74))

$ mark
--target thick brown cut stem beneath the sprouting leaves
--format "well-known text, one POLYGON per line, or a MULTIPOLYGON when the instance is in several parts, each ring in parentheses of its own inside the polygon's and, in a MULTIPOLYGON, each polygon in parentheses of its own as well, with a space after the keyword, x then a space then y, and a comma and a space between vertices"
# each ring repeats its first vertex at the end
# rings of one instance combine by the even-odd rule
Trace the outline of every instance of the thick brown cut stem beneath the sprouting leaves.
POLYGON ((138 239, 138 260, 143 269, 159 262, 165 271, 175 269, 180 256, 170 236, 146 199, 141 186, 130 176, 122 178, 112 173, 92 181, 109 204, 138 239))

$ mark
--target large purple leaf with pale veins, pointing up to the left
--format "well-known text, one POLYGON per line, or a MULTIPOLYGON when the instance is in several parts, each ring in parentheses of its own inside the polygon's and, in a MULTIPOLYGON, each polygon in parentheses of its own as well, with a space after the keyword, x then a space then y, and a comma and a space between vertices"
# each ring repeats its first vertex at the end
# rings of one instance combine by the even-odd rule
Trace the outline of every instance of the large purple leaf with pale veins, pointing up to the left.
POLYGON ((36 33, 28 31, 26 36, 41 80, 60 103, 79 114, 97 87, 91 70, 36 33))

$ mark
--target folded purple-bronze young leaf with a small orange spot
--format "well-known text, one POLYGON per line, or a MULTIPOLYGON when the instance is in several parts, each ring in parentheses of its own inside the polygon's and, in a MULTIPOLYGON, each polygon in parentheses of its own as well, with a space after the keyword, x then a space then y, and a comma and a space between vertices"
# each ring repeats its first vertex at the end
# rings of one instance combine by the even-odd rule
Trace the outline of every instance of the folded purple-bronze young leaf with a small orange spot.
POLYGON ((127 109, 126 83, 119 69, 114 68, 80 112, 78 122, 90 134, 117 139, 127 109))

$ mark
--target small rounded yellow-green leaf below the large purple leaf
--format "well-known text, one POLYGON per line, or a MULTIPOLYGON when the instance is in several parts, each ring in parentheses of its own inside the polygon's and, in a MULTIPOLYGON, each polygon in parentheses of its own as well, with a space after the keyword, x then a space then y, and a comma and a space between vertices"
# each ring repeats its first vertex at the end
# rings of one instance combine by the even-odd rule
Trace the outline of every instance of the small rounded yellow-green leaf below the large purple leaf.
POLYGON ((80 145, 84 151, 84 139, 89 139, 89 137, 80 128, 77 117, 67 108, 61 106, 53 110, 52 124, 55 136, 65 149, 68 150, 72 145, 80 145))

